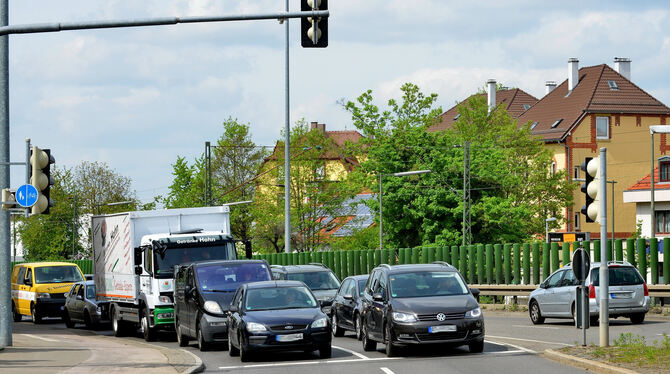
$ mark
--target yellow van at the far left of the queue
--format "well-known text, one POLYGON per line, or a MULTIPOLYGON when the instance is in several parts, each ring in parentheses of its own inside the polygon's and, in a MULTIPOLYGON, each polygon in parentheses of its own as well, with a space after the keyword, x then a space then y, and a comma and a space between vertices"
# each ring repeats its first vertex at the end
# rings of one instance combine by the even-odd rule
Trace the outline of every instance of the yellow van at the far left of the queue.
POLYGON ((24 315, 33 323, 43 317, 63 317, 66 293, 72 284, 84 280, 77 264, 34 262, 14 266, 12 271, 12 314, 19 322, 24 315))

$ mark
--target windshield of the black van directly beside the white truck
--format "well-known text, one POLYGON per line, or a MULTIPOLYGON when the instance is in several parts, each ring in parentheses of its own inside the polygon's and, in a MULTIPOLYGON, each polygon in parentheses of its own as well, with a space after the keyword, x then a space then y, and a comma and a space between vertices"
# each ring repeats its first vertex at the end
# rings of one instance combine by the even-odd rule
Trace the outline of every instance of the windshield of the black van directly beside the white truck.
POLYGON ((203 291, 233 292, 243 283, 270 280, 263 263, 213 264, 196 268, 198 284, 203 291))

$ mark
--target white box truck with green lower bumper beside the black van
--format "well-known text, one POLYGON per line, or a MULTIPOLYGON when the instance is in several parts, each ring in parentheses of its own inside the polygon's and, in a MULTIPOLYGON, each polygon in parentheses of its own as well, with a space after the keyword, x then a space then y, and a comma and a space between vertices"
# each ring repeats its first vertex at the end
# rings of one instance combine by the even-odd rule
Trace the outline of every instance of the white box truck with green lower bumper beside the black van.
POLYGON ((176 265, 237 259, 228 206, 93 216, 91 228, 96 298, 110 302, 114 336, 174 329, 176 265))

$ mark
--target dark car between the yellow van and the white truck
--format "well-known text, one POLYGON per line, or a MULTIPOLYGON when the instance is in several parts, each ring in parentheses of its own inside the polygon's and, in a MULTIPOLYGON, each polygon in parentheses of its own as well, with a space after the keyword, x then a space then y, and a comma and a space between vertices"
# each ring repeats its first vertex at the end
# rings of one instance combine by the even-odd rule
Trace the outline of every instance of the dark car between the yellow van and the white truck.
POLYGON ((95 285, 92 280, 77 282, 72 285, 66 294, 63 307, 65 326, 73 328, 75 323, 83 323, 86 328, 94 328, 101 323, 107 323, 104 313, 109 303, 95 299, 95 285))

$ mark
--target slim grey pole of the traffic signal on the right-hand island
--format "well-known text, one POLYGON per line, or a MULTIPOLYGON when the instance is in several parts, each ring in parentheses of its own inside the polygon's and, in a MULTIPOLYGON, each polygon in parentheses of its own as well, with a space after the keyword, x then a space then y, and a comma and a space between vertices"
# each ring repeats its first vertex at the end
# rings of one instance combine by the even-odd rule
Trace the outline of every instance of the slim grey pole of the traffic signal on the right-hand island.
MULTIPOLYGON (((600 346, 609 346, 609 269, 607 267, 607 148, 600 148, 600 346)), ((653 223, 652 223, 653 225, 653 223)))

